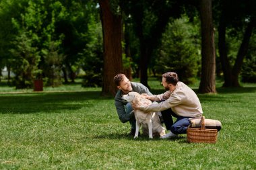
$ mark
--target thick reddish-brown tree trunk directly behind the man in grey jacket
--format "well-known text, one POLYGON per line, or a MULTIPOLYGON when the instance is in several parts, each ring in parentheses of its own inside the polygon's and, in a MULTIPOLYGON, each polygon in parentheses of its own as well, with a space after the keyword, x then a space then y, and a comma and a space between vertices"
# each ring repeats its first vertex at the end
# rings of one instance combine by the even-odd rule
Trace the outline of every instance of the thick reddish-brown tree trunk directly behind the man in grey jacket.
POLYGON ((110 9, 109 0, 100 0, 101 22, 103 32, 103 84, 102 95, 115 95, 117 87, 113 78, 123 71, 121 29, 122 17, 110 9))

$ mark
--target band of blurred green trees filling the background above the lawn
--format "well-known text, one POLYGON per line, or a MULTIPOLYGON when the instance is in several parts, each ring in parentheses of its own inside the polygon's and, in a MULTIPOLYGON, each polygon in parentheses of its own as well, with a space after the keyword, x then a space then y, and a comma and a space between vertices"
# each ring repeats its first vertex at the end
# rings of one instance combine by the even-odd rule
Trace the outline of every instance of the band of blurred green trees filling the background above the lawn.
MULTIPOLYGON (((255 83, 256 3, 211 3, 217 78, 226 87, 255 83)), ((146 86, 148 77, 167 71, 185 83, 202 81, 210 68, 201 62, 199 9, 199 1, 1 0, 0 67, 8 74, 0 77, 16 88, 31 88, 34 79, 55 87, 79 77, 105 94, 115 93, 117 73, 146 86)))

